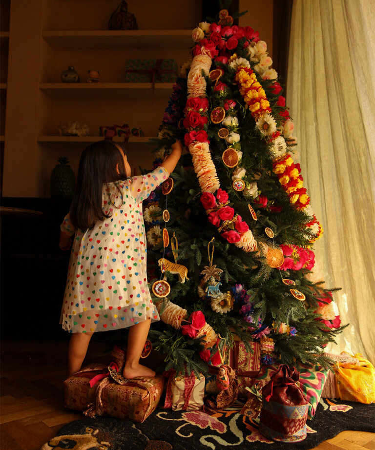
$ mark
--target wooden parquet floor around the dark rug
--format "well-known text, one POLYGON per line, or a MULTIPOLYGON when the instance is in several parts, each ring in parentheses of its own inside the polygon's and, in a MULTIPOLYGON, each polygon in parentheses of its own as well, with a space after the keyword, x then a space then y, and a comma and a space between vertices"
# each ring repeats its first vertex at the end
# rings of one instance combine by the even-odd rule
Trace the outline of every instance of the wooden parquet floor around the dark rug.
MULTIPOLYGON (((67 342, 1 343, 1 450, 39 450, 62 425, 84 417, 63 406, 66 351, 67 342)), ((85 362, 101 360, 104 348, 92 342, 85 362)), ((343 431, 316 449, 375 450, 375 434, 343 431)))

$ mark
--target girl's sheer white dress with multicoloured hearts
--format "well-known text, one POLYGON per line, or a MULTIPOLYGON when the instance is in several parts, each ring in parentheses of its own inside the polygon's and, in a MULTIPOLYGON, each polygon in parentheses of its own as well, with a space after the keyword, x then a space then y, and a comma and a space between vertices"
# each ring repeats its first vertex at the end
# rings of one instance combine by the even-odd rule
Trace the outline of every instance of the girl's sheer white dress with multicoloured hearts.
POLYGON ((75 235, 60 323, 70 333, 106 331, 160 320, 146 275, 142 201, 168 178, 164 167, 103 187, 109 217, 75 230, 69 214, 61 230, 75 235))

